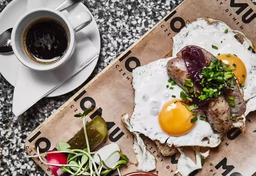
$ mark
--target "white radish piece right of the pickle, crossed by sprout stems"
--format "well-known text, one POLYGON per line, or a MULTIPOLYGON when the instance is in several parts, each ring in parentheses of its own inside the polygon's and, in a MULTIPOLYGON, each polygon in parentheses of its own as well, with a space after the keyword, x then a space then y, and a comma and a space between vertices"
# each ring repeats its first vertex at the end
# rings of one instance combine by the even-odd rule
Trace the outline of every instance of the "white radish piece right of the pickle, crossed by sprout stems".
MULTIPOLYGON (((99 154, 101 156, 101 159, 105 162, 107 157, 109 157, 113 152, 115 152, 117 150, 120 151, 120 147, 116 143, 111 143, 111 144, 105 145, 104 147, 99 149, 97 151, 97 153, 95 153, 93 160, 94 160, 94 162, 99 164, 100 158, 97 155, 97 154, 99 154)), ((116 162, 119 161, 119 158, 120 158, 119 153, 115 153, 105 162, 105 164, 107 165, 107 167, 113 167, 116 164, 116 162)), ((103 167, 103 168, 106 169, 105 167, 103 167)))

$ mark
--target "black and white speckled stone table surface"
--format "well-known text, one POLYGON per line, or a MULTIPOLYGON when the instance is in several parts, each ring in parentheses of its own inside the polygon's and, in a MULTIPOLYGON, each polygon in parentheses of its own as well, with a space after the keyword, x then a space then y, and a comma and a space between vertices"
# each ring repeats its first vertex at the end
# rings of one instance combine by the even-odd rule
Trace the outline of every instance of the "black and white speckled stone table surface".
MULTIPOLYGON (((0 0, 0 12, 11 0, 0 0)), ((26 158, 27 136, 112 60, 150 30, 183 0, 87 0, 101 34, 101 53, 90 78, 71 93, 43 98, 23 115, 12 112, 14 87, 0 74, 0 176, 44 176, 32 159, 26 158)), ((252 0, 256 4, 256 0, 252 0)))

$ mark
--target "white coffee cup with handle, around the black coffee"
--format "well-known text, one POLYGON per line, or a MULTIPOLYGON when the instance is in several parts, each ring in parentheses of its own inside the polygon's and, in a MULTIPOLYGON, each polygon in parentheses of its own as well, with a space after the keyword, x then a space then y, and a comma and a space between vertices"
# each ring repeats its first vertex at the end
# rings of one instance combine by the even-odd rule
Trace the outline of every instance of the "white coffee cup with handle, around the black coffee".
POLYGON ((67 10, 61 12, 48 8, 38 8, 26 12, 20 17, 15 23, 11 34, 11 44, 15 56, 18 60, 30 69, 38 71, 48 71, 58 68, 69 60, 75 50, 75 32, 85 28, 89 23, 92 22, 92 16, 86 11, 85 6, 82 3, 73 5, 67 10), (40 64, 31 58, 24 50, 24 32, 28 26, 35 20, 41 18, 51 18, 60 22, 64 28, 67 29, 69 35, 69 45, 65 54, 51 64, 40 64))

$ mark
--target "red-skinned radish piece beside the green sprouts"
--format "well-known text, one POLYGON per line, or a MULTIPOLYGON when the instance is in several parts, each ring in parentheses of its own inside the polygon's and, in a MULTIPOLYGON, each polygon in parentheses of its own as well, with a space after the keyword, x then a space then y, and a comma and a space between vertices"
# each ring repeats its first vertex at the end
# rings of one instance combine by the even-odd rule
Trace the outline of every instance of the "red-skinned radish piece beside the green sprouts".
MULTIPOLYGON (((53 150, 50 150, 48 152, 53 152, 53 150)), ((67 164, 67 157, 63 153, 49 153, 47 154, 47 163, 53 163, 53 164, 67 164)), ((54 176, 60 176, 58 174, 63 174, 63 172, 58 171, 60 170, 59 166, 48 166, 51 171, 53 172, 54 176)))

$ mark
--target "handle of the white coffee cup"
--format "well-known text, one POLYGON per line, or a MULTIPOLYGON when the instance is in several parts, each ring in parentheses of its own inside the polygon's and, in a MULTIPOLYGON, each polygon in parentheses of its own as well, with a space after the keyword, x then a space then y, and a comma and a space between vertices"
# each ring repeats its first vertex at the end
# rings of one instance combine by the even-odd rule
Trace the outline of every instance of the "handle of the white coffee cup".
POLYGON ((85 8, 81 9, 82 5, 79 5, 79 8, 74 8, 71 11, 63 10, 61 11, 66 18, 68 18, 69 22, 72 24, 72 27, 75 32, 80 31, 85 28, 88 24, 92 22, 92 16, 86 11, 85 8), (77 12, 77 10, 80 12, 77 12), (82 12, 81 12, 82 11, 82 12))

